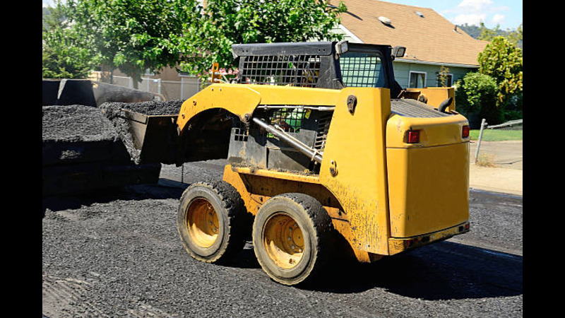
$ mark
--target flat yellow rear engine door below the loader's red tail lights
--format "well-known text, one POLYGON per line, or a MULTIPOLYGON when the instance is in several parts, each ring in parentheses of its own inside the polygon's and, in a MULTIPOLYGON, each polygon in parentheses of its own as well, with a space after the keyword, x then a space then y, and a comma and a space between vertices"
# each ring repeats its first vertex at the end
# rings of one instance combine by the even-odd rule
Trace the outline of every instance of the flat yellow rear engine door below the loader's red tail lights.
POLYGON ((469 143, 389 148, 391 237, 412 237, 469 218, 469 143))

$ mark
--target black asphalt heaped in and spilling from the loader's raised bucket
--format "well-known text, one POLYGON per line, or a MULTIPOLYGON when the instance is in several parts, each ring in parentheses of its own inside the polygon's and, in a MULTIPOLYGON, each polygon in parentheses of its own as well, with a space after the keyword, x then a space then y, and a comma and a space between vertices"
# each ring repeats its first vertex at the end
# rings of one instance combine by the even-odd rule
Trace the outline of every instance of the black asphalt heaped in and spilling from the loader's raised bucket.
POLYGON ((131 160, 136 165, 141 163, 141 150, 137 149, 133 142, 133 135, 130 132, 130 124, 126 119, 127 112, 138 112, 149 116, 153 115, 177 115, 180 112, 184 100, 166 100, 150 102, 105 102, 100 105, 100 110, 106 115, 117 134, 124 142, 131 160))

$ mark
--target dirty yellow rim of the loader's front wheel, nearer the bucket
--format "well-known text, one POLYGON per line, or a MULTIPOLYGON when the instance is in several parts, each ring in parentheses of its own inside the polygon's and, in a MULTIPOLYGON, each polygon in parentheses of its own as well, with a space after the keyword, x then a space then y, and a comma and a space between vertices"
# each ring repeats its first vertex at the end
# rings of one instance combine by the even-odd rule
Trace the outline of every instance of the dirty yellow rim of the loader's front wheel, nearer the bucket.
POLYGON ((186 210, 186 225, 191 240, 199 247, 210 247, 218 240, 218 214, 206 199, 198 198, 191 202, 186 210))

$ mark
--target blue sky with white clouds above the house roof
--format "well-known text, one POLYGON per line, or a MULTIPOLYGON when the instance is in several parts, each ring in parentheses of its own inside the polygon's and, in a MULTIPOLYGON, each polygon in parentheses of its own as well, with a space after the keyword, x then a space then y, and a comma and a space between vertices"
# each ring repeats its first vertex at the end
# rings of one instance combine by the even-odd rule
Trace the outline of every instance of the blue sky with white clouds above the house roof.
MULTIPOLYGON (((53 0, 42 0, 43 6, 53 0)), ((395 4, 432 8, 456 25, 500 25, 501 30, 516 29, 522 23, 522 0, 386 0, 395 4)), ((347 4, 347 2, 346 2, 347 4)))

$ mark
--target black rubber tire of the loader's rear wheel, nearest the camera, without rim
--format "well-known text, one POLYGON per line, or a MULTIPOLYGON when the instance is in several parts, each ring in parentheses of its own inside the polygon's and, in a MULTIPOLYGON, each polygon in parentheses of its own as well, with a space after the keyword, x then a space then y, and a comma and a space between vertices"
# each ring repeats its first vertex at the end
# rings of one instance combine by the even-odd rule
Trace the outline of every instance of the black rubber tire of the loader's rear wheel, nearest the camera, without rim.
POLYGON ((255 217, 253 245, 258 263, 270 278, 285 285, 316 281, 326 268, 331 254, 333 225, 326 209, 307 194, 280 194, 268 199, 255 217), (265 228, 274 216, 290 216, 295 220, 304 241, 302 258, 292 269, 284 269, 269 257, 264 243, 265 228))

